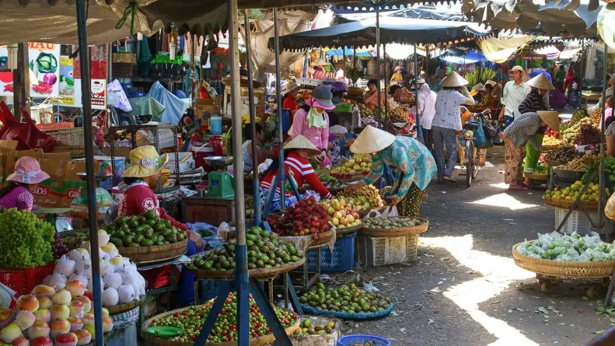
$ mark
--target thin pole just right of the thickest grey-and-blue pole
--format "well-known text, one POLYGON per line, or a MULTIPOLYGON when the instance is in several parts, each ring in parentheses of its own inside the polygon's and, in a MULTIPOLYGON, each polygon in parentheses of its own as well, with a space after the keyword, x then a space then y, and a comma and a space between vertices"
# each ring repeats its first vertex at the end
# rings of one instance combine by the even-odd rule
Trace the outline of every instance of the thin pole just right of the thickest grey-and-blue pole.
POLYGON ((250 134, 252 137, 252 190, 254 196, 254 225, 261 224, 261 199, 259 198, 258 189, 258 162, 256 161, 256 155, 258 155, 258 148, 256 148, 256 110, 254 109, 254 85, 252 84, 252 42, 250 42, 250 18, 248 17, 248 10, 244 10, 244 38, 245 38, 245 61, 246 68, 248 70, 248 95, 250 97, 250 134))

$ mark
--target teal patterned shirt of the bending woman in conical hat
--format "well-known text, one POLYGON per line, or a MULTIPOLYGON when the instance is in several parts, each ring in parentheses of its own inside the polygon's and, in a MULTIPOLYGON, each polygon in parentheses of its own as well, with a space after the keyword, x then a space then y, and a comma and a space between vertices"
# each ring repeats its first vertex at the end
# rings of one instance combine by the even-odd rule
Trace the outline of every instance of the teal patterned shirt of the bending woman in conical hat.
POLYGON ((395 136, 395 141, 371 157, 371 172, 363 179, 367 185, 374 183, 384 172, 384 163, 391 166, 395 182, 394 198, 402 199, 412 183, 425 190, 436 173, 434 156, 418 140, 395 136))

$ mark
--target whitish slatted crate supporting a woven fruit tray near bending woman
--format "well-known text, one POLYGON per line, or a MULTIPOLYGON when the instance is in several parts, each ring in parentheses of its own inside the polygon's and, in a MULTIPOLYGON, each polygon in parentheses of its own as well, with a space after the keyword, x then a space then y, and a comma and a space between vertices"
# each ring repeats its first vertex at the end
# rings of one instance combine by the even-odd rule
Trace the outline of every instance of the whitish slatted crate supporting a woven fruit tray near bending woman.
POLYGON ((395 238, 357 236, 355 257, 370 267, 399 264, 416 260, 418 235, 395 238))

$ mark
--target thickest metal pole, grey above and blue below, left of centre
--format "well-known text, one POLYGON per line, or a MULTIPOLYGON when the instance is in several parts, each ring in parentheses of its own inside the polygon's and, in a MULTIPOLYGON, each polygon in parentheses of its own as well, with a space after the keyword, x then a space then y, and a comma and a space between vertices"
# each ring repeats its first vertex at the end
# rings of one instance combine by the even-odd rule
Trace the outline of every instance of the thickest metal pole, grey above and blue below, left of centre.
MULTIPOLYGON (((232 151, 234 188, 235 188, 235 215, 244 212, 244 161, 241 154, 241 116, 239 115, 239 18, 237 18, 237 0, 227 0, 229 11, 229 56, 231 69, 231 119, 232 119, 232 151)), ((249 52, 248 52, 249 54, 249 52)), ((235 286, 237 288, 237 332, 238 344, 250 344, 250 283, 248 281, 248 251, 245 244, 245 218, 235 220, 237 246, 235 247, 235 286)), ((224 300, 226 297, 218 296, 224 300)))

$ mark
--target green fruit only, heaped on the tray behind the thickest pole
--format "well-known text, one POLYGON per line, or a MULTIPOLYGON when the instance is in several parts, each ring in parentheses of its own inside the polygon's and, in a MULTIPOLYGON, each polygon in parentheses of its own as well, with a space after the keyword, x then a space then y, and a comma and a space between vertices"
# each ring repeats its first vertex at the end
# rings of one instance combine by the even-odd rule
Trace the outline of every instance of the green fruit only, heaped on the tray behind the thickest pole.
MULTIPOLYGON (((247 231, 245 244, 248 247, 248 269, 280 267, 299 262, 303 257, 303 251, 296 249, 293 244, 280 241, 276 233, 260 227, 252 227, 247 231)), ((234 270, 237 242, 231 239, 228 245, 231 254, 224 248, 215 249, 202 256, 193 257, 189 266, 204 270, 234 270)))

